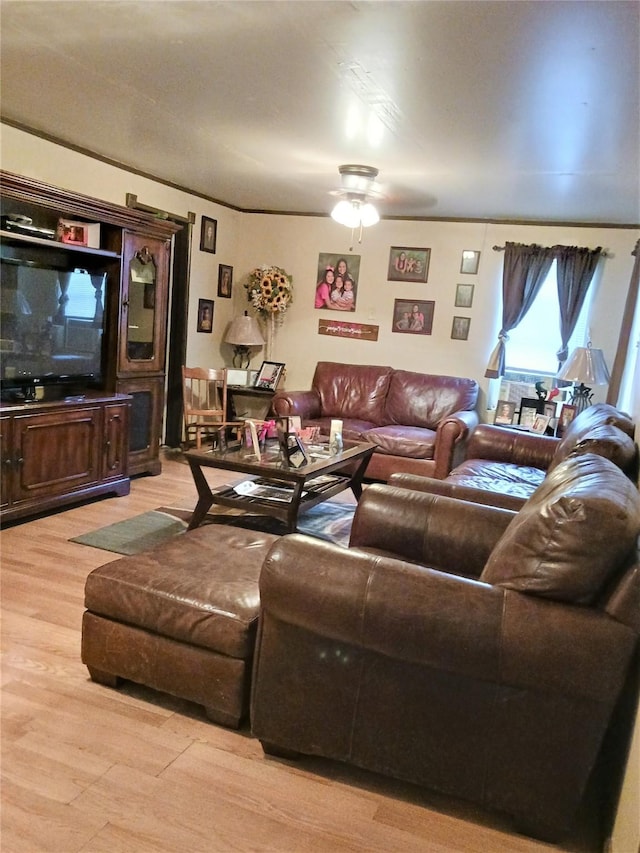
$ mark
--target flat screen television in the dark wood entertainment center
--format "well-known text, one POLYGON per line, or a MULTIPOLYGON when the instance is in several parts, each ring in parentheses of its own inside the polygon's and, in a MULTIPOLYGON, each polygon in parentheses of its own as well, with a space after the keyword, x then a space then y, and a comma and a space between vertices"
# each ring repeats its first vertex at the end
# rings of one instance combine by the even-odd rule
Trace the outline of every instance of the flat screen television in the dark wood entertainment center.
MULTIPOLYGON (((38 386, 78 394, 103 376, 107 275, 46 263, 0 263, 0 393, 30 400, 38 386)), ((46 396, 46 390, 45 390, 46 396)))

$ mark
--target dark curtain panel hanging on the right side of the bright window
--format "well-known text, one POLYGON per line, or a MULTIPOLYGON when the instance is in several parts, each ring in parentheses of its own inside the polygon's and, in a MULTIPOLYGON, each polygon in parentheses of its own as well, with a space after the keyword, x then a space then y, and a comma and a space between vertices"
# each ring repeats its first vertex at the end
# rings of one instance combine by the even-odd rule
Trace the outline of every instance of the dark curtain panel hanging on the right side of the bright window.
POLYGON ((578 322, 589 285, 602 255, 602 247, 554 246, 557 263, 558 304, 560 307, 561 346, 556 355, 558 370, 569 355, 569 339, 578 322))

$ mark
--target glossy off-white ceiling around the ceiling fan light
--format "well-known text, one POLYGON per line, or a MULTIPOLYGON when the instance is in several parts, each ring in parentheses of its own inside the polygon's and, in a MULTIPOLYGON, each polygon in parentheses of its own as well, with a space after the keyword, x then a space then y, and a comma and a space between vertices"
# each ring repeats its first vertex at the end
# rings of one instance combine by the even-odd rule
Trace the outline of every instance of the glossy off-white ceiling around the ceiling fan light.
POLYGON ((243 210, 640 223, 637 0, 2 0, 1 111, 243 210))

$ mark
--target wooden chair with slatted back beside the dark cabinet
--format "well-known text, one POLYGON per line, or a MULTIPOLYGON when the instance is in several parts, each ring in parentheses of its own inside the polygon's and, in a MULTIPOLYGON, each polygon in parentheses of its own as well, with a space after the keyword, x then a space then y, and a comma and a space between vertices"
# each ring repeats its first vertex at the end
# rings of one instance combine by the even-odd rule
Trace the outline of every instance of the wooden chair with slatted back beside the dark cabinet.
POLYGON ((200 450, 203 436, 213 438, 220 429, 242 428, 243 421, 227 420, 227 371, 204 367, 182 367, 182 400, 184 408, 185 439, 195 436, 200 450))

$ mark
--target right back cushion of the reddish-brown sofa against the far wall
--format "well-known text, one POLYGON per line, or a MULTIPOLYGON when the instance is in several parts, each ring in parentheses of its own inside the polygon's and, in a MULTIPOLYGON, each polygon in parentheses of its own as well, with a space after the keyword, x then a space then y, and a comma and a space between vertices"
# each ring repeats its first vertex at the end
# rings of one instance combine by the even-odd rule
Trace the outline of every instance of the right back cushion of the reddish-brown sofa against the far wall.
POLYGON ((474 409, 477 399, 474 379, 396 370, 389 384, 384 422, 437 429, 448 415, 474 409))

